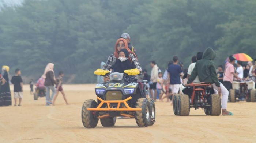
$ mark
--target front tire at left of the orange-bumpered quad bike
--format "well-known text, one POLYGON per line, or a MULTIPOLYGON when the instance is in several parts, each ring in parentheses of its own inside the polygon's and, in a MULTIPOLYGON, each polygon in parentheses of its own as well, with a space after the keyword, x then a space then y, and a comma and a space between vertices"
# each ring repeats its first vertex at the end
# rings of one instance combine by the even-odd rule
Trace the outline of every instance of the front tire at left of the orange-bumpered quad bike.
POLYGON ((86 100, 83 103, 82 107, 82 122, 83 126, 86 128, 95 128, 98 124, 99 119, 97 116, 93 115, 93 112, 95 111, 88 111, 87 108, 96 108, 97 102, 90 99, 86 100))

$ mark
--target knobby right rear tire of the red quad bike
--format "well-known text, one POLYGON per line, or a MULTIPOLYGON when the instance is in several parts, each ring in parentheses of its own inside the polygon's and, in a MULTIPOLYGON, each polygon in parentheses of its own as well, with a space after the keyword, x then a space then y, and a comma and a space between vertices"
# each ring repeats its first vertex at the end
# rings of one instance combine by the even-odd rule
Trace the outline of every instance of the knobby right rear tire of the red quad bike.
POLYGON ((210 115, 219 116, 221 114, 221 98, 218 94, 211 94, 210 115))

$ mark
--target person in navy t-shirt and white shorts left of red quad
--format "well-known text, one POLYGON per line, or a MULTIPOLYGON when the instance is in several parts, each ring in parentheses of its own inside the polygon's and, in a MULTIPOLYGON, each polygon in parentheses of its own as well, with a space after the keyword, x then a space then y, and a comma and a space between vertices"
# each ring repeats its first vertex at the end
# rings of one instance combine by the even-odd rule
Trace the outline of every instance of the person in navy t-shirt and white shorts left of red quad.
MULTIPOLYGON (((180 67, 180 65, 178 65, 178 57, 174 56, 173 57, 173 64, 169 66, 168 68, 168 79, 170 80, 170 88, 172 90, 172 96, 175 94, 178 94, 179 90, 180 90, 180 75, 183 76, 183 72, 182 69, 180 67)), ((169 90, 167 88, 167 90, 169 90)), ((167 92, 168 93, 168 92, 167 92)), ((173 98, 172 98, 172 104, 173 104, 173 98)))

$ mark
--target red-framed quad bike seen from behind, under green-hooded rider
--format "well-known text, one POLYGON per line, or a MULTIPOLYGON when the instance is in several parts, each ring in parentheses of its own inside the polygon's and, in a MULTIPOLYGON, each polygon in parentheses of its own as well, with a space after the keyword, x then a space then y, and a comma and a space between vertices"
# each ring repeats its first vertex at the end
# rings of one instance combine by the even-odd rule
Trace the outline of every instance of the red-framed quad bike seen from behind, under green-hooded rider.
POLYGON ((221 114, 221 98, 214 94, 211 84, 188 84, 182 90, 184 94, 173 96, 173 112, 175 115, 188 116, 190 108, 204 108, 206 115, 219 116, 221 114))

